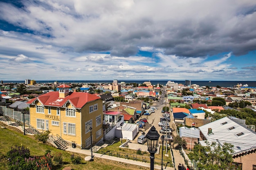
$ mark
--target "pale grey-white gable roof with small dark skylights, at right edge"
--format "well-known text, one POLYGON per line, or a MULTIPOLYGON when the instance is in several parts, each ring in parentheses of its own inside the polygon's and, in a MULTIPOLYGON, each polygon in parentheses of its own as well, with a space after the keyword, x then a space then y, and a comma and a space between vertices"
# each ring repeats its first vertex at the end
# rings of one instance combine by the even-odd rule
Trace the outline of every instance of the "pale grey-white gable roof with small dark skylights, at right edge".
MULTIPOLYGON (((235 152, 233 156, 256 149, 256 132, 240 125, 231 117, 223 117, 200 126, 199 129, 210 143, 216 142, 222 146, 226 142, 234 145, 235 152), (208 135, 208 128, 212 129, 212 134, 208 135)), ((201 145, 206 146, 205 141, 199 142, 201 145)))

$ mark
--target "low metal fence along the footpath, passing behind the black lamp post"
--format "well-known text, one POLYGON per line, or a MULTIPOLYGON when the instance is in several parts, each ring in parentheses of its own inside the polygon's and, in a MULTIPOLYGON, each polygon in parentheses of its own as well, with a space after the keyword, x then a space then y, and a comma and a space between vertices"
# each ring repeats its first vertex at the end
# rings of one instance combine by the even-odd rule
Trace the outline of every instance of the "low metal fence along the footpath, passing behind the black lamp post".
MULTIPOLYGON (((142 155, 134 155, 124 152, 117 152, 112 150, 107 150, 105 148, 101 148, 97 151, 97 148, 92 148, 92 152, 100 153, 102 155, 109 155, 113 157, 119 157, 124 159, 132 159, 134 161, 141 161, 141 162, 149 162, 150 163, 150 157, 149 156, 142 156, 142 155)), ((154 163, 161 165, 162 159, 155 158, 154 163)), ((164 160, 163 159, 163 166, 170 166, 173 167, 173 162, 170 160, 164 160)))

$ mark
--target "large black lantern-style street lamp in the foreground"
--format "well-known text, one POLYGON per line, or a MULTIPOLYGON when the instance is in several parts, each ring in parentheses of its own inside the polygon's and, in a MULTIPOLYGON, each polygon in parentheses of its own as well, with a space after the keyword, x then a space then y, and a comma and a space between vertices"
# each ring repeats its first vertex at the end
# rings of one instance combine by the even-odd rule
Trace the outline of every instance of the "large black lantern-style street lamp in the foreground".
POLYGON ((157 152, 157 143, 160 135, 155 130, 155 127, 152 126, 148 131, 146 138, 147 138, 147 145, 148 145, 148 152, 150 153, 150 170, 154 170, 154 159, 155 159, 155 152, 157 152))

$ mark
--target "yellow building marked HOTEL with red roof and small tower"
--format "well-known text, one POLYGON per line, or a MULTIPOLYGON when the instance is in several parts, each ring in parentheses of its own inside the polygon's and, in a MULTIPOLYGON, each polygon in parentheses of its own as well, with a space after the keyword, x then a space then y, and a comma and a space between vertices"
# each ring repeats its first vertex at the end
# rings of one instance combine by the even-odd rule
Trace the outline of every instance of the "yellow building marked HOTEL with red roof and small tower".
POLYGON ((96 95, 70 92, 70 86, 58 86, 52 91, 36 97, 27 104, 30 110, 30 125, 37 130, 50 130, 69 143, 87 148, 92 141, 103 139, 103 105, 96 95))

